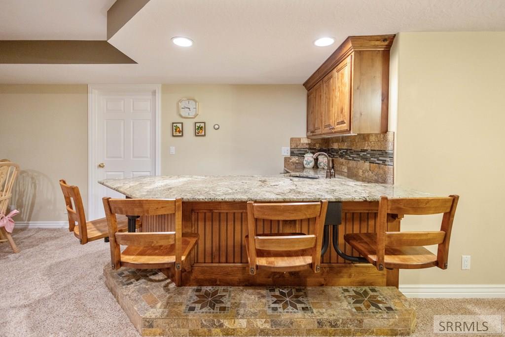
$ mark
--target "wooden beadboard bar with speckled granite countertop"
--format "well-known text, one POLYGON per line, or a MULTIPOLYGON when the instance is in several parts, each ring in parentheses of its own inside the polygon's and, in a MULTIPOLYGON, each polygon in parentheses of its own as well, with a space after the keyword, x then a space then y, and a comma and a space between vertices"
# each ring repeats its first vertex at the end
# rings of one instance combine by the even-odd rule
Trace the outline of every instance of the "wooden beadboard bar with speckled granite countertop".
MULTIPOLYGON (((359 256, 344 243, 345 233, 375 232, 378 200, 387 197, 428 197, 423 192, 386 184, 365 183, 344 177, 300 179, 276 176, 149 176, 106 179, 99 183, 130 198, 182 198, 182 230, 198 233, 191 257, 191 272, 183 273, 186 286, 398 286, 398 271, 378 271, 371 264, 350 263, 332 245, 324 254, 321 271, 258 270, 250 275, 244 237, 247 235, 247 201, 342 202, 339 247, 359 256)), ((315 219, 301 221, 256 220, 257 232, 313 233, 315 219)), ((142 219, 143 231, 173 231, 173 215, 142 219)), ((388 230, 399 230, 391 220, 388 230)), ((332 237, 330 226, 330 241, 332 237)))

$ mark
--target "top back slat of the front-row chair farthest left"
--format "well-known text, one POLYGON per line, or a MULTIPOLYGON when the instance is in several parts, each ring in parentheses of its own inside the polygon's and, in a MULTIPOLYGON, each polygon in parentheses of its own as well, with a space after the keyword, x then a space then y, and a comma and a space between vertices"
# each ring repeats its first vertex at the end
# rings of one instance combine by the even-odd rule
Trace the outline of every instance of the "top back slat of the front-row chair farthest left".
POLYGON ((175 199, 110 199, 111 212, 122 215, 175 213, 175 199))

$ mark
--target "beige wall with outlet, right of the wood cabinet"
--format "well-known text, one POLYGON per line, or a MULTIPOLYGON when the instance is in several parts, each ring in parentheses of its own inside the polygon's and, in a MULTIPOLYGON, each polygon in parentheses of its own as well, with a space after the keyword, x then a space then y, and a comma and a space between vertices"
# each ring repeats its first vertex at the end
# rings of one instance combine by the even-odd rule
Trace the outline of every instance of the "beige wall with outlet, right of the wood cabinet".
MULTIPOLYGON (((400 33, 392 54, 395 183, 461 198, 449 268, 402 270, 400 283, 505 284, 505 32, 400 33)), ((436 230, 429 220, 402 228, 436 230)))

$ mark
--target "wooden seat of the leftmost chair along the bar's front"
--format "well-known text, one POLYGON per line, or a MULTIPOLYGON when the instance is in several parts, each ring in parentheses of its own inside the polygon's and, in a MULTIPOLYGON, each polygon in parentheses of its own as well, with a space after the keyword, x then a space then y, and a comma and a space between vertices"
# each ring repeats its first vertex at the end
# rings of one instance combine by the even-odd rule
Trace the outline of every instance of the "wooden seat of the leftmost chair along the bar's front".
MULTIPOLYGON (((182 261, 198 240, 197 233, 182 234, 182 261)), ((168 268, 175 262, 175 244, 169 246, 128 246, 121 253, 121 266, 137 269, 168 268)))

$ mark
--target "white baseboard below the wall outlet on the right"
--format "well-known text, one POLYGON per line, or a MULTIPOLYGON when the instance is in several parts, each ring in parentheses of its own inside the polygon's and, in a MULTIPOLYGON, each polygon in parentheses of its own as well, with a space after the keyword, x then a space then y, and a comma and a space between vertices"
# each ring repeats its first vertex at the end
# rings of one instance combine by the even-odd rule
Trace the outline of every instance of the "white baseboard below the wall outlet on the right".
POLYGON ((505 298, 505 284, 403 284, 410 298, 505 298))

